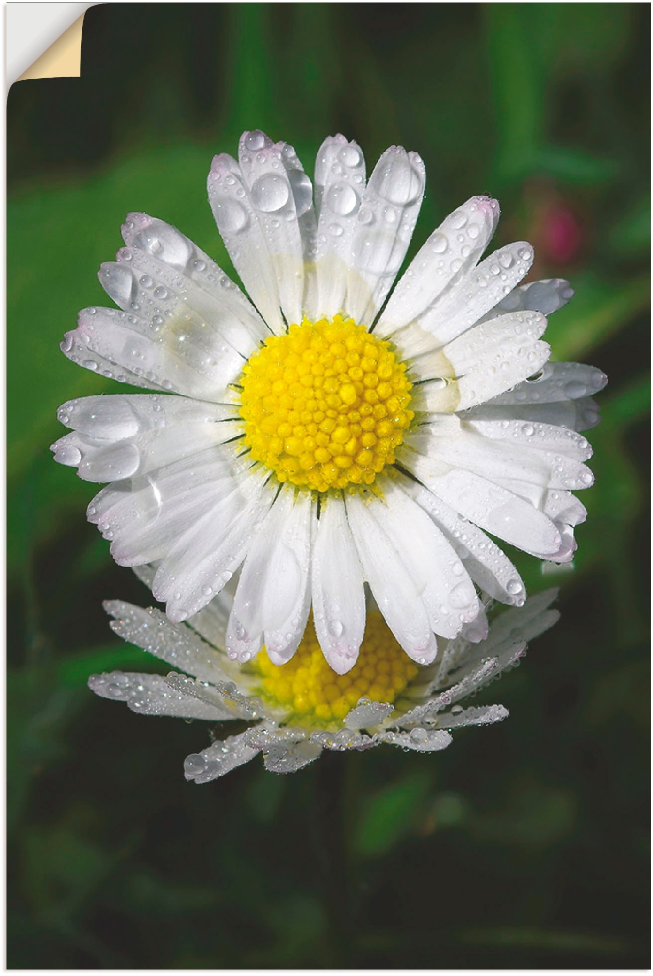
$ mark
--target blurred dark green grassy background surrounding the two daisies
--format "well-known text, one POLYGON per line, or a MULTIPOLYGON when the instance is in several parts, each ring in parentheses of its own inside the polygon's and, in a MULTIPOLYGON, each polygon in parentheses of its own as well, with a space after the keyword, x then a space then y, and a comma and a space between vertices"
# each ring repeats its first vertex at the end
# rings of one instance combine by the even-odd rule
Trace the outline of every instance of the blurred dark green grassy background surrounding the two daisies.
MULTIPOLYGON (((82 78, 9 95, 9 957, 21 968, 646 967, 648 905, 647 4, 105 4, 82 78), (94 486, 50 459, 56 409, 118 389, 59 350, 110 304, 98 265, 128 211, 230 268, 214 152, 262 128, 308 172, 327 134, 371 169, 427 164, 409 252, 470 195, 576 298, 556 359, 609 374, 562 620, 493 686, 510 718, 435 755, 261 761, 184 782, 202 723, 85 686, 157 670, 104 598, 146 603, 85 521, 94 486), (345 804, 342 857, 332 798, 345 804)), ((557 583, 517 557, 531 590, 557 583)), ((164 666, 164 671, 167 670, 164 666)))

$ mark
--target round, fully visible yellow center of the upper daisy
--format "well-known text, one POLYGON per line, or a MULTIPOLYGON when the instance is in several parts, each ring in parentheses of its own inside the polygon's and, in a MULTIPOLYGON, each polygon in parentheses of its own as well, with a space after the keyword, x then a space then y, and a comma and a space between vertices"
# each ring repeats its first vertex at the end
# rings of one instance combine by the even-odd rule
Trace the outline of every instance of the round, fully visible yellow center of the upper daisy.
POLYGON ((325 492, 371 484, 413 419, 387 341, 336 315, 272 336, 243 369, 245 444, 279 481, 325 492))

